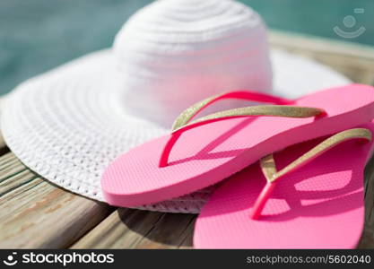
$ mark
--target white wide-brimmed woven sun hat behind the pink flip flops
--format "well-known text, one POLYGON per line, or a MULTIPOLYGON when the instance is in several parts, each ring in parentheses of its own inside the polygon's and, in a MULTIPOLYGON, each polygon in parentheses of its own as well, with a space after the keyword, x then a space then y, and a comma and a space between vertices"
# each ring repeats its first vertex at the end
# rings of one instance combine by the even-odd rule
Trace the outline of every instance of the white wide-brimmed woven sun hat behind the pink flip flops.
MULTIPOLYGON (((238 89, 298 97, 348 82, 306 58, 269 54, 265 24, 244 4, 160 0, 126 22, 113 49, 19 85, 5 102, 1 127, 7 145, 30 169, 104 201, 100 176, 109 162, 167 133, 198 100, 238 89)), ((212 188, 142 208, 198 213, 212 188)))

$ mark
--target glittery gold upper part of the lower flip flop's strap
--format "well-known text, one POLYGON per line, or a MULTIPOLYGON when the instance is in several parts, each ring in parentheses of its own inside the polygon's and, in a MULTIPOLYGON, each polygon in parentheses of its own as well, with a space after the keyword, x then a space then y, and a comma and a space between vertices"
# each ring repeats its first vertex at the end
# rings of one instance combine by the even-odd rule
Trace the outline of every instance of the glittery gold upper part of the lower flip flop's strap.
POLYGON ((365 139, 371 140, 371 132, 368 129, 364 128, 355 128, 343 131, 341 133, 335 134, 327 138, 322 143, 318 143, 313 149, 309 152, 303 154, 300 158, 295 161, 292 161, 285 168, 277 171, 274 161, 273 154, 269 154, 260 160, 261 169, 265 175, 265 178, 268 182, 274 182, 275 180, 283 177, 284 175, 290 173, 295 169, 299 169, 301 166, 307 164, 309 161, 314 160, 317 156, 321 155, 323 152, 326 152, 339 143, 343 143, 351 139, 365 139))

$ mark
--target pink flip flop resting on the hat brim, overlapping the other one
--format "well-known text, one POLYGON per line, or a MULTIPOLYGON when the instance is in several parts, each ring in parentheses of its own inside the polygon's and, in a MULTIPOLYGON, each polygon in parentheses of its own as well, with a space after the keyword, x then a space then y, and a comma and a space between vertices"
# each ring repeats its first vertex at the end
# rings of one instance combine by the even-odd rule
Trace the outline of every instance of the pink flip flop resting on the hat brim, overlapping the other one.
POLYGON ((171 134, 144 143, 109 164, 101 178, 109 204, 152 204, 194 192, 291 144, 369 122, 374 91, 352 84, 284 100, 251 91, 232 91, 185 110, 171 134), (234 108, 196 119, 222 99, 275 105, 234 108), (266 117, 264 117, 266 116, 266 117))

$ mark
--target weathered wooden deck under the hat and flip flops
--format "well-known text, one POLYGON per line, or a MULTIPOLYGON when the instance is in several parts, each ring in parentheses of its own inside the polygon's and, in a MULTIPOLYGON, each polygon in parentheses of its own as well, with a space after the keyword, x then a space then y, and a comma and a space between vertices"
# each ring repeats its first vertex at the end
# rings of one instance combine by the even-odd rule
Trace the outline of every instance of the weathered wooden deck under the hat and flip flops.
MULTIPOLYGON (((272 32, 271 44, 374 85, 374 49, 272 32)), ((365 170, 358 247, 374 247, 374 160, 365 170)), ((188 248, 196 215, 114 208, 74 195, 27 169, 0 135, 0 248, 188 248)))

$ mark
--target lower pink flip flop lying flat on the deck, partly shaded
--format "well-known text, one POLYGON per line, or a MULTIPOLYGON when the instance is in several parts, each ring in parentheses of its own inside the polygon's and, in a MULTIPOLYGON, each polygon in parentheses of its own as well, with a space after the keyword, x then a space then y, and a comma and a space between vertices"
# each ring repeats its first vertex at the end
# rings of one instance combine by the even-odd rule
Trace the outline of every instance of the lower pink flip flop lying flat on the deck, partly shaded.
POLYGON ((363 170, 373 149, 372 142, 358 142, 370 141, 372 132, 374 123, 292 145, 228 178, 197 218, 194 246, 357 246, 364 221, 363 170))

